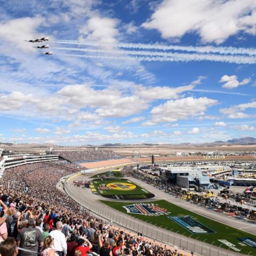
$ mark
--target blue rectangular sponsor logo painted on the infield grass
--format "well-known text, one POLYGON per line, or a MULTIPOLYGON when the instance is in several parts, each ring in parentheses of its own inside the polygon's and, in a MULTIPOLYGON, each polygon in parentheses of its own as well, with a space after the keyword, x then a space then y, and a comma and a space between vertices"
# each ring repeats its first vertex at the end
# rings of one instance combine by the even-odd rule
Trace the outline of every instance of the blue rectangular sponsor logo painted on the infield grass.
POLYGON ((207 233, 216 233, 209 227, 206 227, 202 223, 198 222, 197 220, 193 219, 192 216, 179 216, 179 217, 171 217, 168 216, 169 219, 174 220, 182 227, 186 228, 193 234, 207 234, 207 233))

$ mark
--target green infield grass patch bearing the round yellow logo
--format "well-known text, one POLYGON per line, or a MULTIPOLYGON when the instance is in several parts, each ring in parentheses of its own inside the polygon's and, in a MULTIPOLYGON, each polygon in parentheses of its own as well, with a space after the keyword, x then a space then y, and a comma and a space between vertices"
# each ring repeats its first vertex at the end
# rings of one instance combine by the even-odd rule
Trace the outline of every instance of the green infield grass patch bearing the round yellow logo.
POLYGON ((127 179, 95 179, 92 181, 97 193, 114 199, 147 199, 155 195, 127 179))

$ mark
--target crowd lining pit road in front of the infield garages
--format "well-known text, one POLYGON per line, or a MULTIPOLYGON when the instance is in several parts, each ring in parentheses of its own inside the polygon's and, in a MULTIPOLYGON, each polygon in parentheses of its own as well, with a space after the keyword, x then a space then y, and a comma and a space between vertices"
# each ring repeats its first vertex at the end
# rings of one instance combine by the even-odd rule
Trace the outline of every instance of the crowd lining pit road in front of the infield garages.
POLYGON ((167 194, 173 195, 177 198, 186 199, 186 201, 190 202, 191 204, 197 204, 199 207, 206 207, 208 210, 215 210, 218 212, 226 213, 228 215, 234 215, 237 219, 247 218, 248 220, 255 220, 254 211, 239 206, 238 202, 235 203, 228 200, 227 202, 220 202, 218 197, 206 197, 205 194, 194 194, 186 196, 187 191, 182 189, 181 186, 166 183, 162 179, 155 177, 154 175, 147 172, 134 170, 134 166, 124 167, 122 170, 122 175, 143 180, 144 182, 157 187, 167 194))

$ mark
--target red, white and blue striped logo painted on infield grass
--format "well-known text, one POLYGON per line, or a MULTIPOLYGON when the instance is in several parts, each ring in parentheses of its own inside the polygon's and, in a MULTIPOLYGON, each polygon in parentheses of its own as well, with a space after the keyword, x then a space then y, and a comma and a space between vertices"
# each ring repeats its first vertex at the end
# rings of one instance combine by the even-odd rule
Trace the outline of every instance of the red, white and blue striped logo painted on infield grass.
POLYGON ((159 207, 157 204, 131 204, 123 206, 127 213, 142 214, 147 216, 169 215, 166 209, 159 207))

